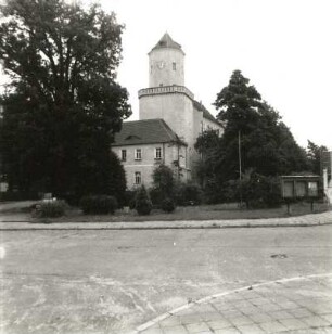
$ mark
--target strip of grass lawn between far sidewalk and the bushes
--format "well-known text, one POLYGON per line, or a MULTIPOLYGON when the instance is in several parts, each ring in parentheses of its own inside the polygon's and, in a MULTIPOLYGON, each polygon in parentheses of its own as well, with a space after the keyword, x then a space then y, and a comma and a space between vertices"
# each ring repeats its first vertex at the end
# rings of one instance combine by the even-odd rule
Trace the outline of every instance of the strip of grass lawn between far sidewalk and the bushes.
MULTIPOLYGON (((311 214, 310 203, 297 203, 292 206, 292 216, 302 216, 311 214)), ((331 210, 331 206, 323 203, 314 204, 314 213, 331 210)), ((115 215, 82 215, 79 209, 72 209, 65 217, 53 218, 51 221, 156 221, 156 220, 222 220, 222 219, 259 219, 259 218, 279 218, 289 217, 286 207, 270 209, 239 209, 233 205, 200 205, 200 206, 180 206, 171 214, 165 214, 163 210, 153 209, 149 216, 139 216, 136 210, 117 210, 115 215)))

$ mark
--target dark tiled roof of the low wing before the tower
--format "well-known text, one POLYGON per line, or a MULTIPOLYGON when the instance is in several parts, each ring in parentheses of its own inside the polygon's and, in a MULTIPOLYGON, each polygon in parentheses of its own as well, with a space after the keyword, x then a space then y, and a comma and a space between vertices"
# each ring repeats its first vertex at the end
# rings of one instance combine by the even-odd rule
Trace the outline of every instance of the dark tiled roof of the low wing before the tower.
POLYGON ((183 141, 159 118, 123 123, 120 132, 115 134, 112 146, 154 144, 183 141))

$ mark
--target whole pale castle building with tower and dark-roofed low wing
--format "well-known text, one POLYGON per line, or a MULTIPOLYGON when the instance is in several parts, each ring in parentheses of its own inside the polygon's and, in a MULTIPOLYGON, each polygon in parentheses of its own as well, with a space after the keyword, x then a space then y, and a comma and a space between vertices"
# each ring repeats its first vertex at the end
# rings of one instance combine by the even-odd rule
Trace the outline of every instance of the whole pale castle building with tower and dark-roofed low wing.
POLYGON ((207 129, 221 134, 222 127, 184 86, 184 52, 167 33, 149 52, 149 88, 138 95, 140 120, 125 121, 112 145, 124 165, 127 187, 150 187, 158 164, 191 180, 200 159, 197 137, 207 129))

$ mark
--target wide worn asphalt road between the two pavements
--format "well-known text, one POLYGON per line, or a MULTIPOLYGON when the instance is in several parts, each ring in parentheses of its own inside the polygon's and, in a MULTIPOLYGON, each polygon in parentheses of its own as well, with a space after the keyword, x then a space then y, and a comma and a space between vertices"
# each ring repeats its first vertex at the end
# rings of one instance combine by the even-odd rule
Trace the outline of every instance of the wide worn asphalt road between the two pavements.
POLYGON ((125 333, 188 300, 332 272, 331 241, 331 226, 3 231, 0 332, 125 333))

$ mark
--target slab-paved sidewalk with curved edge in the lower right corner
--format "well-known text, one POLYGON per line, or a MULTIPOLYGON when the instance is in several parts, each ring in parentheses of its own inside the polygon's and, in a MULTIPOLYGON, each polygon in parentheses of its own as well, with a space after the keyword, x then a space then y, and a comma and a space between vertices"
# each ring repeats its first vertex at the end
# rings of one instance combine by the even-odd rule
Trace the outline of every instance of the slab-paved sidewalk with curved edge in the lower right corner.
POLYGON ((284 279, 184 305, 131 334, 332 333, 332 273, 284 279))

